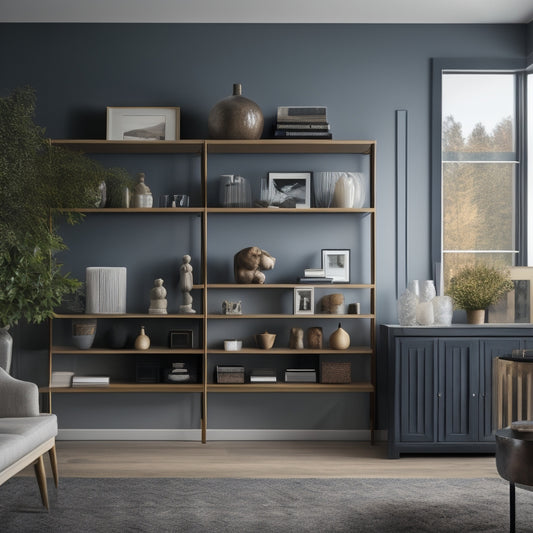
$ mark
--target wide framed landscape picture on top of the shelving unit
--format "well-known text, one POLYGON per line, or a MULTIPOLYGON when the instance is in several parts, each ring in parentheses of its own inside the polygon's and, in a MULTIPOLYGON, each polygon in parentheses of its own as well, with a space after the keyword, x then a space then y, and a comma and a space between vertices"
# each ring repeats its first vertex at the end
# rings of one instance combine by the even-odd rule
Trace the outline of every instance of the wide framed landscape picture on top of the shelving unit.
POLYGON ((179 107, 108 107, 108 141, 177 141, 179 107))

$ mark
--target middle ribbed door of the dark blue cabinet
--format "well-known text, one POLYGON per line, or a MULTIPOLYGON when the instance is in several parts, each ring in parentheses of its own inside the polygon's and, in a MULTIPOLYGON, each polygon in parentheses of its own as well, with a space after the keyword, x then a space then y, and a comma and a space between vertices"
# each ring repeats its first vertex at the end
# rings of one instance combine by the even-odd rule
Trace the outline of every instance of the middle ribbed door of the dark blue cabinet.
POLYGON ((478 345, 465 339, 439 342, 439 441, 477 440, 478 345))

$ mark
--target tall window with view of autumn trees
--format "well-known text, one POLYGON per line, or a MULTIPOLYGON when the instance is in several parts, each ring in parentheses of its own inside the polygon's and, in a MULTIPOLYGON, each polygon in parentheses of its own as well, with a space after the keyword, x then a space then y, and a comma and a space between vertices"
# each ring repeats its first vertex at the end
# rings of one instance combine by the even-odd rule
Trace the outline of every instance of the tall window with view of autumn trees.
POLYGON ((516 69, 441 66, 434 82, 437 74, 432 234, 445 291, 466 265, 527 264, 526 179, 520 159, 524 77, 516 69))

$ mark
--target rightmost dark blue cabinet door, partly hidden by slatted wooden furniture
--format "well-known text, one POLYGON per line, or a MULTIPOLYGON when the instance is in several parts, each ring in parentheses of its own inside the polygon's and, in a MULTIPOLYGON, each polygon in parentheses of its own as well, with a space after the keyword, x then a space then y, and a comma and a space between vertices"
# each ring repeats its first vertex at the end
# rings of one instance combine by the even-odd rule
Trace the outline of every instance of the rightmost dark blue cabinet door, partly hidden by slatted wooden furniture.
POLYGON ((492 434, 492 363, 495 357, 510 354, 522 347, 520 339, 487 339, 482 342, 483 351, 480 358, 480 416, 479 440, 494 441, 492 434))

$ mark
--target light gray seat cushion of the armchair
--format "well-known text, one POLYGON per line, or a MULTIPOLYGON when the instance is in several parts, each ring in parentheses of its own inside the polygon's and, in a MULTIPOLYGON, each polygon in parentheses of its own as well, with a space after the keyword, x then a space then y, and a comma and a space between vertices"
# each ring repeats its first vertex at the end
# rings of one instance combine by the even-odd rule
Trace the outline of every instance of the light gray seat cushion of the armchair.
POLYGON ((0 471, 56 435, 56 415, 0 418, 0 471))

